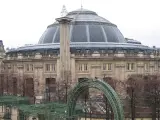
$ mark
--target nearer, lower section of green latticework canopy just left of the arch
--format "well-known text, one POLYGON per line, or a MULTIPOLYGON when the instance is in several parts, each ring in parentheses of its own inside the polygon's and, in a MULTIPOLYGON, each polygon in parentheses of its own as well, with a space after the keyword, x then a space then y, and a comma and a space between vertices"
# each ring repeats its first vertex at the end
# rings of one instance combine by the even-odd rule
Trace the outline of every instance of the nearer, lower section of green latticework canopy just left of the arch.
MULTIPOLYGON (((20 120, 32 116, 39 118, 40 120, 53 120, 53 118, 66 119, 67 116, 67 104, 63 103, 45 103, 45 104, 33 104, 33 105, 21 105, 18 107, 20 111, 20 120)), ((72 117, 78 117, 82 114, 81 106, 76 106, 74 115, 72 117)))

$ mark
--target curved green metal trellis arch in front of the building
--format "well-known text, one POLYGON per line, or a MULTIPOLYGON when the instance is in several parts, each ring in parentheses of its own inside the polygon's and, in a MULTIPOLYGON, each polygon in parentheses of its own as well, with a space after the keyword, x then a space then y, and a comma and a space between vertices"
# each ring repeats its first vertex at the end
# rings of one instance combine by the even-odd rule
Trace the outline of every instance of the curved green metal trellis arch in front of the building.
POLYGON ((120 99, 116 94, 116 92, 113 90, 113 88, 106 82, 103 82, 102 80, 93 80, 93 79, 89 79, 85 82, 78 83, 69 92, 68 101, 67 101, 68 117, 72 117, 74 115, 76 101, 80 96, 80 94, 82 93, 82 91, 84 91, 86 88, 96 88, 102 91, 112 107, 115 120, 124 120, 124 113, 123 113, 120 99))

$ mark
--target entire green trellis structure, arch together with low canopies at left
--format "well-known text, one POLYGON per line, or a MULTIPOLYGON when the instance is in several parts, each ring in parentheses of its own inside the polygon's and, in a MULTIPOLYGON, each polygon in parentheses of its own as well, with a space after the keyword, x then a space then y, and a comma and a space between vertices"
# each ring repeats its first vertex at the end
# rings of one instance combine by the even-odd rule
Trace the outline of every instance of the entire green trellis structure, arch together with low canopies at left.
MULTIPOLYGON (((8 95, 0 96, 0 106, 16 107, 19 111, 19 120, 25 120, 29 116, 39 120, 73 120, 84 115, 82 106, 76 105, 76 101, 88 88, 96 88, 102 91, 112 107, 114 119, 124 120, 123 109, 118 95, 109 84, 97 79, 86 79, 78 83, 69 92, 67 104, 50 102, 31 105, 27 97, 8 95)), ((6 113, 4 118, 10 118, 9 116, 10 113, 6 113)))

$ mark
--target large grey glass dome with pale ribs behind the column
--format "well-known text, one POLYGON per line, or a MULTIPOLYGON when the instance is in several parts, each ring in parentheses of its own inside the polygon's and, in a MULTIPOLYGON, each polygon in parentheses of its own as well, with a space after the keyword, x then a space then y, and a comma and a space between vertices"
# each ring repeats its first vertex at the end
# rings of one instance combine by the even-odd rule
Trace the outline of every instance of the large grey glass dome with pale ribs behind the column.
MULTIPOLYGON (((71 43, 126 43, 117 26, 105 18, 98 16, 96 12, 78 9, 69 12, 66 16, 73 18, 73 21, 69 25, 71 43)), ((49 25, 38 44, 59 43, 59 29, 58 22, 49 25)))

